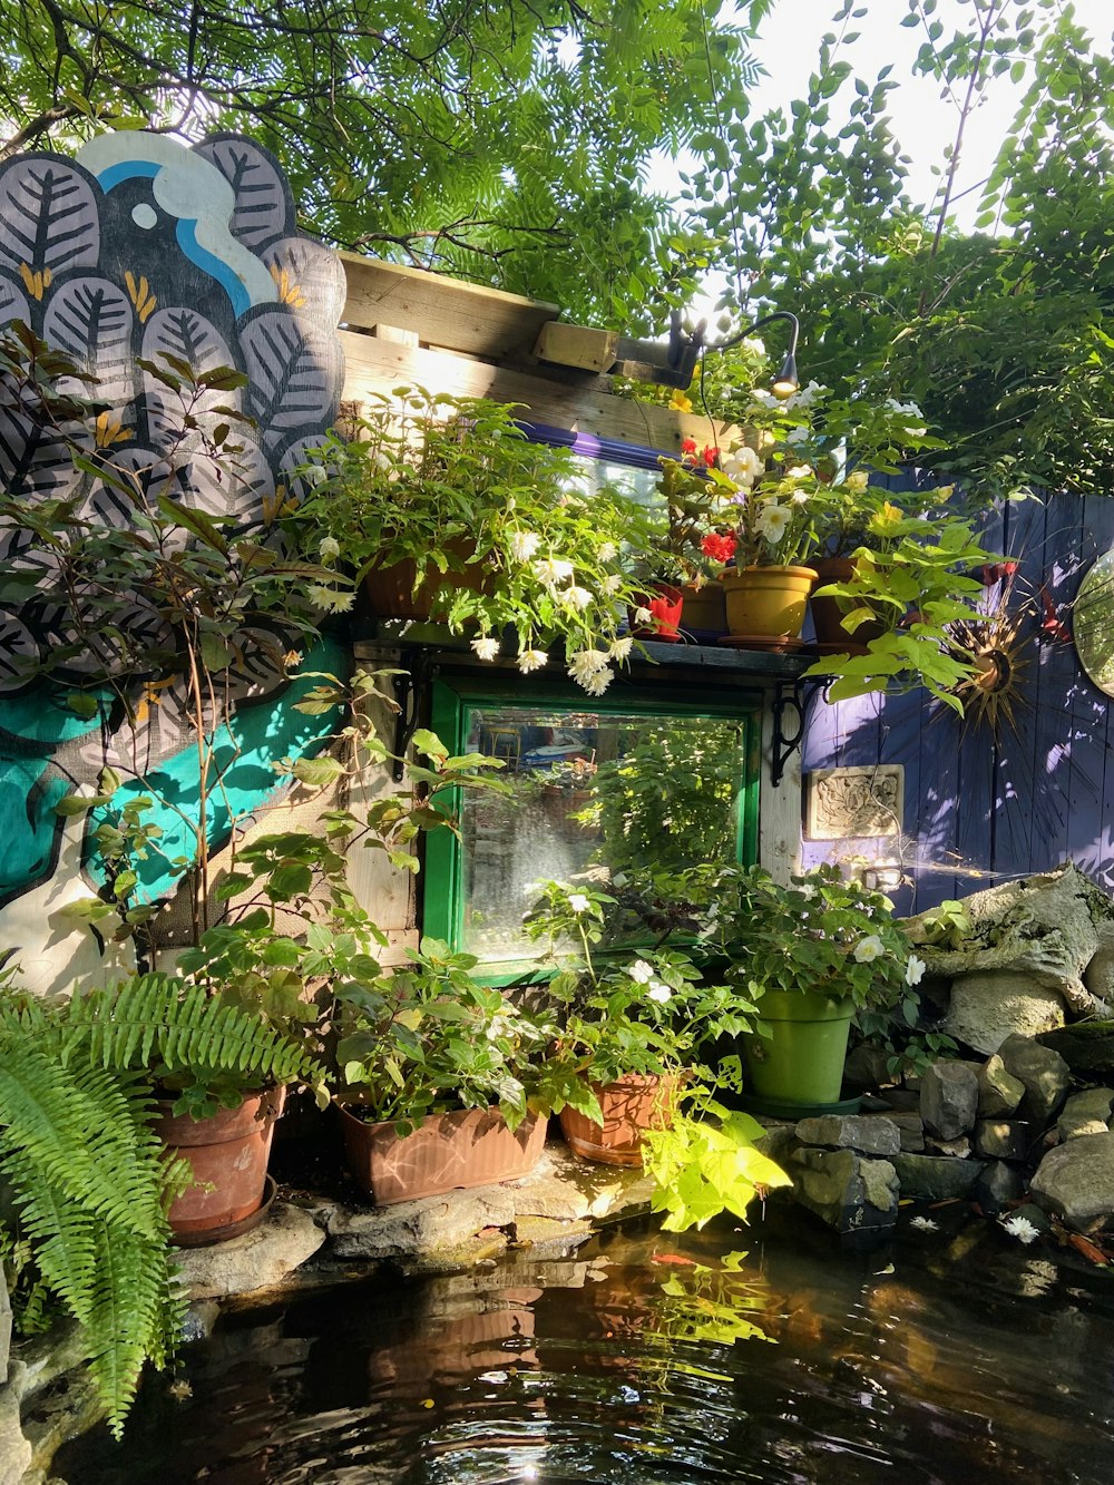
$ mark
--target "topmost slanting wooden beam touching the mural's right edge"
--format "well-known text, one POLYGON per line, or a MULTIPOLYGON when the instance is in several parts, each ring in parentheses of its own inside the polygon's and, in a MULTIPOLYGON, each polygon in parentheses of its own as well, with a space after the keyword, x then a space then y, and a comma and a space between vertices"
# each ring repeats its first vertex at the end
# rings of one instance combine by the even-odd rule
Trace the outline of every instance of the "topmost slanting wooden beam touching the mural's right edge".
POLYGON ((463 284, 420 269, 342 252, 348 276, 345 324, 356 330, 395 325, 423 345, 490 361, 529 356, 542 325, 560 309, 498 288, 463 284))

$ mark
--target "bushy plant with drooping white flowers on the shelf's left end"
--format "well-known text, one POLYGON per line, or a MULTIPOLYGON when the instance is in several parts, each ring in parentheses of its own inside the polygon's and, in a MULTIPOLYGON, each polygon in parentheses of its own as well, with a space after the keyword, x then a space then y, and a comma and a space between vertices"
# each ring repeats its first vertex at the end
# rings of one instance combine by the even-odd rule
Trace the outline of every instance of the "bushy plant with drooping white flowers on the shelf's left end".
POLYGON ((312 454, 287 532, 355 569, 380 618, 472 631, 486 661, 511 630, 523 673, 563 642, 572 679, 600 695, 630 647, 618 630, 637 587, 619 552, 640 512, 610 487, 588 496, 572 453, 530 443, 514 413, 422 389, 379 398, 355 437, 312 454))

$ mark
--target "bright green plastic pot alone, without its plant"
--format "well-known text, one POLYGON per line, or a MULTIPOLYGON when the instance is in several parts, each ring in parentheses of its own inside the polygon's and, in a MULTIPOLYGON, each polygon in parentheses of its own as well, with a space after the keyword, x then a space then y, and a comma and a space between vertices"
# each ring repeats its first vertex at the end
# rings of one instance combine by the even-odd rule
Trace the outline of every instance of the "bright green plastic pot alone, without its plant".
POLYGON ((758 1008, 769 1035, 743 1038, 752 1090, 778 1103, 838 1103, 853 1002, 817 990, 766 990, 758 1008))

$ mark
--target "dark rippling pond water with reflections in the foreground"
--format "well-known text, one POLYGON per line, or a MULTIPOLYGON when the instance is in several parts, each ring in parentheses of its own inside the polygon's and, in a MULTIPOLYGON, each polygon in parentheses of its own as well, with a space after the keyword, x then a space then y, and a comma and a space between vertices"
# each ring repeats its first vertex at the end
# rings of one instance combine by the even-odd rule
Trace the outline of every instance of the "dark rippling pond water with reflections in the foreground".
POLYGON ((933 1218, 869 1255, 793 1212, 627 1225, 226 1316, 175 1386, 147 1378, 122 1445, 79 1440, 55 1476, 1110 1485, 1114 1280, 933 1218))

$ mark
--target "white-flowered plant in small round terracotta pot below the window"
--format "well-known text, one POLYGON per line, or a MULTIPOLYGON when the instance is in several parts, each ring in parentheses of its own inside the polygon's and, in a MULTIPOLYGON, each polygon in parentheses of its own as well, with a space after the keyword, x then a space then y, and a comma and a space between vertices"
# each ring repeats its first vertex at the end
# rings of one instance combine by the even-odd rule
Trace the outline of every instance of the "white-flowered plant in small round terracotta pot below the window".
POLYGON ((615 946, 631 927, 630 891, 619 903, 597 887, 547 882, 526 918, 527 934, 544 939, 547 961, 558 965, 550 993, 560 1034, 545 1096, 572 1149, 605 1164, 640 1166, 643 1136, 674 1118, 682 1087, 714 1081, 701 1050, 750 1025, 746 995, 707 983, 689 953, 665 946, 691 924, 670 912, 670 887, 654 884, 655 916, 668 924, 654 947, 615 946), (605 940, 610 947, 600 950, 605 940))

